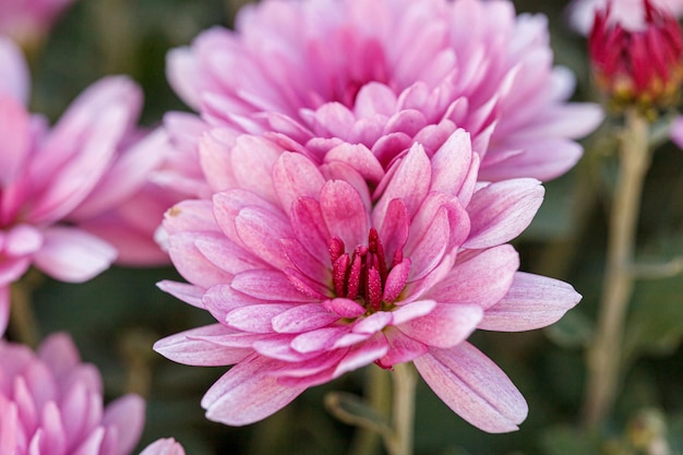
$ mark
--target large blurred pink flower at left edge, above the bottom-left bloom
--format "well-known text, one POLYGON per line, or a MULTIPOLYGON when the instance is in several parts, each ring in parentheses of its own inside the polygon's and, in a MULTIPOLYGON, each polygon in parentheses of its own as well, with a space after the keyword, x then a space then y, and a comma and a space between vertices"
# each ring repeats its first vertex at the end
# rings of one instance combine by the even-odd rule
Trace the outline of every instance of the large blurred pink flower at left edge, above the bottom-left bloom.
POLYGON ((83 282, 117 254, 123 263, 166 262, 153 235, 172 202, 145 199, 167 141, 163 131, 136 129, 142 94, 131 80, 96 82, 50 128, 25 107, 28 71, 7 38, 0 63, 1 334, 8 286, 31 265, 83 282))

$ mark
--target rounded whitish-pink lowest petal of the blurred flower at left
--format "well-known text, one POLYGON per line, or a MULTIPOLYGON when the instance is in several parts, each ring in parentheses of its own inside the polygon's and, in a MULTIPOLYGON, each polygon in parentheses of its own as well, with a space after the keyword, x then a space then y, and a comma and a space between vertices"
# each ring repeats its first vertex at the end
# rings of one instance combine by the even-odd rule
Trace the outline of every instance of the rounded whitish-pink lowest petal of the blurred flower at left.
POLYGON ((117 252, 109 243, 79 229, 51 227, 45 244, 35 253, 38 268, 62 282, 81 283, 107 270, 117 252))

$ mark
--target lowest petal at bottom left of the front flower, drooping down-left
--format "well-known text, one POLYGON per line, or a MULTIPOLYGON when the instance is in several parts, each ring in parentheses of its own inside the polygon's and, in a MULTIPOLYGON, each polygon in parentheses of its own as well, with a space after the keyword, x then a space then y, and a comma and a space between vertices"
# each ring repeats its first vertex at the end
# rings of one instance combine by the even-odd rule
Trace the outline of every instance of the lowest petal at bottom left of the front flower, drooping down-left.
POLYGON ((232 367, 202 398, 206 418, 229 426, 253 423, 284 408, 307 388, 278 384, 269 372, 273 364, 271 359, 253 356, 232 367))

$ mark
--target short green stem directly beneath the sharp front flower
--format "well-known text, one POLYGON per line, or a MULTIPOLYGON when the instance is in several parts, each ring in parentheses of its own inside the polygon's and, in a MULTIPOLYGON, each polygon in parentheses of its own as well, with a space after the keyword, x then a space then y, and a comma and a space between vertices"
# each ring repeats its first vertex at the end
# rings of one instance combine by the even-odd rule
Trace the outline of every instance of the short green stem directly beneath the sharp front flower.
POLYGON ((415 420, 415 390, 417 374, 412 363, 397 363, 394 366, 394 405, 392 408, 393 429, 392 438, 385 439, 386 451, 390 455, 412 454, 412 430, 415 420))

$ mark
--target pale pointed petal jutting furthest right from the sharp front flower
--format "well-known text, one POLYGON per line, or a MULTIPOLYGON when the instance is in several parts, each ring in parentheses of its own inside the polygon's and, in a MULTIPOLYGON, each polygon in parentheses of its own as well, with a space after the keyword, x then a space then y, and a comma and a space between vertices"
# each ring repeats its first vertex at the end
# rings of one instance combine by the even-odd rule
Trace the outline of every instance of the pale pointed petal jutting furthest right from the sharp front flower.
POLYGON ((558 279, 517 272, 505 297, 489 308, 479 328, 522 332, 553 324, 582 299, 558 279))

